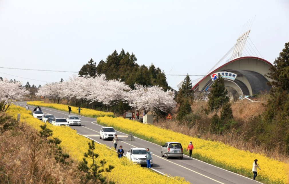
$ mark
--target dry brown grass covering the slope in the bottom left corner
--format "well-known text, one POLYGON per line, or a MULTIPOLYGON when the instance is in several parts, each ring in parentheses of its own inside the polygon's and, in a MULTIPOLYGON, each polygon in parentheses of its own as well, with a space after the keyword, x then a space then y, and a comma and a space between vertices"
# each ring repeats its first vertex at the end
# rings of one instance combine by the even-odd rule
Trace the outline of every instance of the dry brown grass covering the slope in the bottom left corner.
POLYGON ((0 144, 0 183, 84 183, 81 178, 85 174, 77 169, 78 163, 70 158, 70 164, 56 161, 57 148, 25 124, 0 135, 0 144))

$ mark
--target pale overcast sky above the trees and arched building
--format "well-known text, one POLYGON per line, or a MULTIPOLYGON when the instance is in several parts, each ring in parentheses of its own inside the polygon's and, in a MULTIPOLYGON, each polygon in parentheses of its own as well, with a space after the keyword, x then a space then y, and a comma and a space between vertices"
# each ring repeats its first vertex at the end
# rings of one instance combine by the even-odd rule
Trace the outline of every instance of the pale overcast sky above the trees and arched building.
MULTIPOLYGON (((177 90, 184 76, 172 74, 205 75, 253 17, 249 37, 273 63, 289 41, 288 10, 288 0, 0 0, 0 67, 78 72, 124 49, 164 70, 177 90)), ((37 86, 70 75, 0 68, 1 77, 37 86)))

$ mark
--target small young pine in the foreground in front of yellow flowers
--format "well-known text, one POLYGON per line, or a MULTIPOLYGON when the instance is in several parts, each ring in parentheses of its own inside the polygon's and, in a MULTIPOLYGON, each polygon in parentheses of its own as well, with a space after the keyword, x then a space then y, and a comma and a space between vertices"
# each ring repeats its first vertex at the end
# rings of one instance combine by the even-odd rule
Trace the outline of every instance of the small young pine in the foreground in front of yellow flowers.
POLYGON ((95 149, 96 148, 94 141, 91 141, 91 143, 89 142, 87 153, 84 153, 83 161, 79 164, 78 169, 80 171, 86 172, 86 178, 88 180, 94 179, 105 183, 105 177, 103 177, 101 173, 110 172, 114 168, 114 166, 109 165, 108 168, 104 169, 103 167, 106 164, 106 161, 104 159, 100 160, 100 164, 98 165, 96 159, 99 155, 95 153, 95 149), (88 166, 88 161, 86 161, 86 158, 92 160, 92 164, 90 164, 90 166, 88 166))

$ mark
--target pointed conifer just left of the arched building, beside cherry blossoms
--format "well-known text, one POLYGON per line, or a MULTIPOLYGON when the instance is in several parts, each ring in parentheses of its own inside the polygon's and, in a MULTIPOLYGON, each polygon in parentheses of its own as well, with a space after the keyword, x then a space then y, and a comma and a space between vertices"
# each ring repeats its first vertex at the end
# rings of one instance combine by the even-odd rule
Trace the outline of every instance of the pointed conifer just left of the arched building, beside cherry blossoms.
POLYGON ((183 103, 185 98, 188 98, 190 104, 192 105, 194 101, 194 90, 192 90, 192 82, 190 79, 190 76, 187 75, 184 79, 183 84, 181 85, 181 88, 179 88, 179 91, 177 93, 177 103, 181 104, 183 103))

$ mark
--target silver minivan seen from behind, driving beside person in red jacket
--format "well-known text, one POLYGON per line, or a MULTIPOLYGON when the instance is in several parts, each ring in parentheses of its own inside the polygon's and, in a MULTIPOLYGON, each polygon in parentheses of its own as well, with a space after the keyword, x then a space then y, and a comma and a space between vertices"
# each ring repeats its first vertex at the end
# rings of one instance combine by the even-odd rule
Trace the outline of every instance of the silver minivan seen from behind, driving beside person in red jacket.
POLYGON ((162 145, 162 157, 164 156, 167 159, 169 157, 179 157, 180 159, 183 159, 184 154, 181 143, 167 142, 164 145, 162 145))

